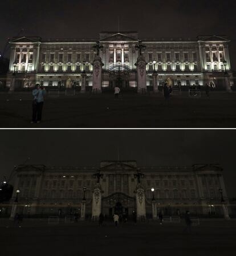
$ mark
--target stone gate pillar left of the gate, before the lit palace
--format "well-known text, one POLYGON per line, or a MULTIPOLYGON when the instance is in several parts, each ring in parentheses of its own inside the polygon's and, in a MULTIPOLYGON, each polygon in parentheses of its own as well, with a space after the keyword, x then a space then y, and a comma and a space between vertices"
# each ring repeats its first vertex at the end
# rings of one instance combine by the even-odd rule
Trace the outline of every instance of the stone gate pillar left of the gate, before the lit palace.
POLYGON ((101 58, 96 56, 93 60, 93 72, 92 72, 92 90, 93 93, 101 93, 101 70, 103 67, 103 62, 101 58))

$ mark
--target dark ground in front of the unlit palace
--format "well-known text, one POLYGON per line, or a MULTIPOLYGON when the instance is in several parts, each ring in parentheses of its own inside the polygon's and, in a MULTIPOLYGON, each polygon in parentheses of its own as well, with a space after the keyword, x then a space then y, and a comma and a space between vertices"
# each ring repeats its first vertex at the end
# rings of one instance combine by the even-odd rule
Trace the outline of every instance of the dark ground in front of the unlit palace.
POLYGON ((236 255, 236 221, 200 221, 192 234, 184 223, 120 224, 112 222, 48 225, 26 220, 22 227, 0 221, 1 255, 11 256, 233 256, 236 255))

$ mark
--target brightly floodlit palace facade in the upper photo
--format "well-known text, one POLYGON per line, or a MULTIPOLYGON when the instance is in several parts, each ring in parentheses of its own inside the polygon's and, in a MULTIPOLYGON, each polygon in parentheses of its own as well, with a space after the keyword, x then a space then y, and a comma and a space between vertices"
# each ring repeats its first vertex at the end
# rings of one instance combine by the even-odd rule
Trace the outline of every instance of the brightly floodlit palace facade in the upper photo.
POLYGON ((153 72, 157 72, 157 86, 171 78, 173 84, 191 86, 212 83, 223 87, 225 70, 233 79, 230 68, 229 40, 225 36, 198 36, 195 39, 139 38, 137 32, 101 32, 96 39, 13 38, 10 42, 10 69, 7 86, 81 87, 83 74, 86 90, 93 86, 94 46, 103 48, 99 56, 103 62, 102 88, 137 87, 137 44, 147 63, 147 88, 153 86, 153 72), (14 75, 14 76, 13 76, 14 75))

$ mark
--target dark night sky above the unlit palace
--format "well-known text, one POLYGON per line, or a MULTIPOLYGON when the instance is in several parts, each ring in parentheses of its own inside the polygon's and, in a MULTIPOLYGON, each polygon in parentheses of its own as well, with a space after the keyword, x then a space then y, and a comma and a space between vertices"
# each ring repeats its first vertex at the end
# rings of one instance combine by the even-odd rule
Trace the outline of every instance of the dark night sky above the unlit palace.
POLYGON ((1 130, 0 179, 14 165, 97 166, 137 160, 139 166, 221 164, 227 192, 236 197, 234 130, 1 130))

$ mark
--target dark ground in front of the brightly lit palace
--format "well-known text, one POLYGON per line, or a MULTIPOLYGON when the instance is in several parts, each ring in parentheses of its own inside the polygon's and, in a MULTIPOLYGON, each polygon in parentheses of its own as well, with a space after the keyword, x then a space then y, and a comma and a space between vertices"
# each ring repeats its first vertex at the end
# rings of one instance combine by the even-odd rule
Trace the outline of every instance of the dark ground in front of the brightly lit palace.
POLYGON ((43 121, 30 124, 31 93, 0 94, 1 128, 224 128, 236 127, 236 93, 211 92, 191 98, 188 92, 162 94, 76 95, 47 97, 43 121))

